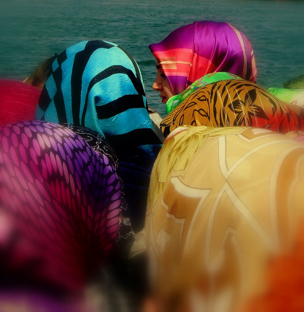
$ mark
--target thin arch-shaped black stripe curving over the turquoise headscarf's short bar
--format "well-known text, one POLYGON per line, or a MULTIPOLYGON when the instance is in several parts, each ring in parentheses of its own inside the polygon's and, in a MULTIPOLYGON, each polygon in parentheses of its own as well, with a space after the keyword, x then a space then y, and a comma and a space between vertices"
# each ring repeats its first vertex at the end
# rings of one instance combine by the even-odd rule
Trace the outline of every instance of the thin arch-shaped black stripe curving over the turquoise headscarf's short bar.
MULTIPOLYGON (((143 97, 142 97, 142 95, 145 95, 145 91, 143 90, 142 84, 137 80, 137 78, 134 75, 133 71, 131 71, 130 69, 128 69, 128 68, 126 68, 124 66, 121 66, 121 65, 113 65, 113 66, 110 66, 110 67, 106 68, 105 70, 101 71, 99 74, 97 74, 95 77, 93 77, 92 80, 90 81, 89 87, 88 87, 88 90, 87 90, 87 94, 86 94, 86 97, 85 97, 84 109, 83 109, 83 112, 82 112, 82 118, 81 118, 81 124, 82 125, 84 125, 84 119, 85 119, 85 114, 86 114, 87 107, 88 107, 88 97, 89 97, 90 90, 99 81, 104 80, 105 78, 108 78, 109 76, 112 76, 112 75, 115 75, 115 74, 126 74, 126 75, 128 75, 128 77, 131 80, 135 90, 138 92, 138 95, 140 96, 140 98, 138 98, 138 100, 140 100, 140 102, 138 104, 136 104, 136 107, 142 107, 142 108, 145 107, 145 103, 144 103, 143 97)), ((97 109, 97 107, 96 107, 96 109, 97 109)), ((127 109, 128 109, 128 107, 126 107, 125 110, 127 110, 127 109)), ((122 111, 124 111, 124 110, 121 110, 120 113, 122 111)), ((117 115, 117 114, 115 114, 115 115, 117 115)), ((112 116, 115 116, 115 115, 112 115, 112 116)), ((100 116, 100 119, 102 119, 102 116, 100 114, 99 114, 99 116, 100 116)), ((103 117, 103 118, 105 118, 105 117, 103 117)))

